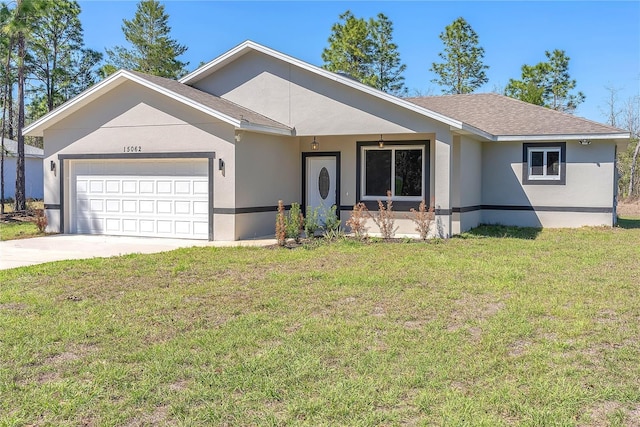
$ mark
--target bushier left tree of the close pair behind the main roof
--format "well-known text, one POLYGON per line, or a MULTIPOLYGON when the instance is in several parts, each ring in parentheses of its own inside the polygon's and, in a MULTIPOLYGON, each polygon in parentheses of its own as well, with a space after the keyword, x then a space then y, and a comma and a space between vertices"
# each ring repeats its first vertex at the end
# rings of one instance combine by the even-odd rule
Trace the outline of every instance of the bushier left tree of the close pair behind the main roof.
POLYGON ((329 47, 322 52, 322 68, 344 73, 365 84, 372 83, 373 40, 367 21, 347 10, 333 24, 329 47))

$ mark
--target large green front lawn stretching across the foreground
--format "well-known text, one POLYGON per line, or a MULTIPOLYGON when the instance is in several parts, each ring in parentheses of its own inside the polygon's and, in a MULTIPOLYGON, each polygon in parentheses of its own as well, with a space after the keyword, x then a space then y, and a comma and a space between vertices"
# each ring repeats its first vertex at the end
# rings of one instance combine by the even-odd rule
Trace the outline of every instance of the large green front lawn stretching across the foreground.
POLYGON ((637 425, 639 259, 482 227, 2 271, 0 425, 637 425))

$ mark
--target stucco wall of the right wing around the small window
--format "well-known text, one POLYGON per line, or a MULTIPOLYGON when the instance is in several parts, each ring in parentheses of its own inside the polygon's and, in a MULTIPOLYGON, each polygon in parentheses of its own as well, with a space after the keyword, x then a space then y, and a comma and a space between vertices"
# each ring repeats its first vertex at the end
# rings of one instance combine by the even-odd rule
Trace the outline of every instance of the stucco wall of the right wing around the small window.
POLYGON ((569 141, 564 185, 523 185, 523 144, 485 143, 482 205, 535 211, 484 209, 482 221, 544 227, 611 225, 613 215, 607 210, 613 208, 614 146, 613 142, 582 146, 569 141))

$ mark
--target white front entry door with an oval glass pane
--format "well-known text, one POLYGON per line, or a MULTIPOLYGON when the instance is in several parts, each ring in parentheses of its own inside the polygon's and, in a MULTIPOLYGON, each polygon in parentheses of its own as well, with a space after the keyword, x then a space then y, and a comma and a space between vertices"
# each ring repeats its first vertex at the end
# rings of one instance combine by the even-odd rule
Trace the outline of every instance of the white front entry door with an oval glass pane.
POLYGON ((319 208, 320 221, 331 206, 338 204, 337 155, 308 156, 306 161, 306 204, 319 208))

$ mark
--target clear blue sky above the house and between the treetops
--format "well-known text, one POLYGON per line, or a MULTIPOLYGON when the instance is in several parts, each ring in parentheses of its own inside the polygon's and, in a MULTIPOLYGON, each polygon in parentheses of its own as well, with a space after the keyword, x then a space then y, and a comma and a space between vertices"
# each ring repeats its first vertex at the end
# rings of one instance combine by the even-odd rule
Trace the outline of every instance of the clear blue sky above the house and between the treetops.
MULTIPOLYGON (((126 45, 122 19, 133 18, 136 1, 80 1, 88 47, 126 45)), ((189 47, 180 58, 189 70, 245 40, 253 40, 314 65, 322 65, 331 26, 345 10, 369 18, 382 12, 394 24, 394 41, 407 65, 411 91, 440 94, 431 83, 438 61, 438 35, 462 16, 485 49, 489 82, 478 92, 501 90, 520 77, 523 64, 562 49, 569 72, 586 95, 577 115, 605 121, 608 92, 622 101, 640 95, 639 1, 165 1, 172 36, 189 47)))

